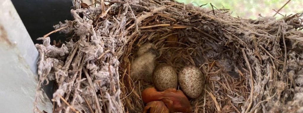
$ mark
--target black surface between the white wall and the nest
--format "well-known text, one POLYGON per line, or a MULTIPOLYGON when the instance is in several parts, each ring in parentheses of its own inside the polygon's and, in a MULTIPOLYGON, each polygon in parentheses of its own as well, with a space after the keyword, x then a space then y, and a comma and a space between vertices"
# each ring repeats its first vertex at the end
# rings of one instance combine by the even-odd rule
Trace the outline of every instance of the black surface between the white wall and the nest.
MULTIPOLYGON (((54 25, 64 20, 72 20, 70 13, 73 6, 72 0, 12 0, 26 30, 34 43, 39 37, 55 30, 54 25)), ((66 37, 62 33, 52 33, 51 43, 59 39, 64 42, 66 37)))

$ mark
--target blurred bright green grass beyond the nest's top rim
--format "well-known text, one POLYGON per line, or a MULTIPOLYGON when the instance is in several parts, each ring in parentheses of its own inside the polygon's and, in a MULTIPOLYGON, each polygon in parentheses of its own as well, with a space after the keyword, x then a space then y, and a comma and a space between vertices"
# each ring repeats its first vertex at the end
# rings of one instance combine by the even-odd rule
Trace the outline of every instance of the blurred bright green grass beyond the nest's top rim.
MULTIPOLYGON (((211 9, 211 3, 216 8, 225 8, 232 11, 232 16, 242 18, 258 18, 259 14, 263 17, 273 16, 288 0, 176 0, 185 4, 192 3, 195 6, 202 6, 202 8, 211 9)), ((302 0, 291 0, 279 13, 285 15, 302 13, 303 12, 303 1, 302 0)), ((277 14, 275 17, 283 17, 277 14)))

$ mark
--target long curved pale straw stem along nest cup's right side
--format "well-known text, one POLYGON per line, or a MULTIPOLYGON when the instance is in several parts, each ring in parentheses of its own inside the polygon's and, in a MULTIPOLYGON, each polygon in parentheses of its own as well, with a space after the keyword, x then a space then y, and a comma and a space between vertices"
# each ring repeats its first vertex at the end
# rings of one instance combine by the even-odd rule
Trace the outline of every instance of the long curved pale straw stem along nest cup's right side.
POLYGON ((247 109, 245 111, 245 113, 247 113, 248 110, 250 109, 250 107, 252 105, 252 101, 253 101, 252 99, 253 99, 253 96, 254 96, 254 79, 252 77, 252 70, 251 70, 251 67, 250 67, 250 63, 249 63, 249 61, 248 61, 248 59, 246 57, 246 53, 245 53, 244 49, 242 49, 242 53, 243 53, 243 56, 245 58, 246 66, 248 67, 248 70, 249 70, 250 82, 251 82, 251 86, 250 86, 250 88, 251 88, 251 90, 250 90, 250 102, 249 102, 248 107, 247 107, 247 109))

